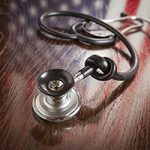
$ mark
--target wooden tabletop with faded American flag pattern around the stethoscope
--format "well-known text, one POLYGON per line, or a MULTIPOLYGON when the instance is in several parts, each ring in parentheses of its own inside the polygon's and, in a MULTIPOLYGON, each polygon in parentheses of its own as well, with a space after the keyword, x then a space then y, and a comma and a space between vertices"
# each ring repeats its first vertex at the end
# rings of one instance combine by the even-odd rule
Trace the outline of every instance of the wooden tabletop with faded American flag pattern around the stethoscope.
MULTIPOLYGON (((32 100, 36 79, 47 69, 75 74, 92 54, 112 58, 118 71, 129 69, 125 47, 85 46, 48 39, 37 20, 51 10, 72 10, 102 18, 120 12, 150 18, 149 0, 0 0, 0 150, 149 150, 150 149, 150 26, 130 34, 140 66, 127 82, 100 82, 92 77, 76 84, 80 112, 63 123, 37 118, 32 100)), ((53 18, 51 25, 74 20, 53 18)), ((119 24, 123 26, 123 24, 119 24)))

